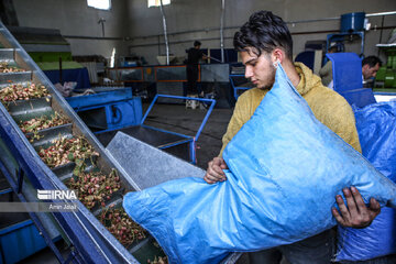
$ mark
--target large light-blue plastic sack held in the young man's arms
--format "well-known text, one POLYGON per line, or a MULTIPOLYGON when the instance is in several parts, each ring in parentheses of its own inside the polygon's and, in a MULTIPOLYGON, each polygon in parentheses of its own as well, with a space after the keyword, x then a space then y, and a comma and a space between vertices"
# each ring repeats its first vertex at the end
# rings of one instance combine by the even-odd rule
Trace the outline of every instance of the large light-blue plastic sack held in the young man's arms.
POLYGON ((219 263, 320 233, 336 224, 331 207, 345 186, 396 205, 395 185, 315 118, 280 66, 223 157, 223 183, 183 178, 124 196, 170 263, 219 263))

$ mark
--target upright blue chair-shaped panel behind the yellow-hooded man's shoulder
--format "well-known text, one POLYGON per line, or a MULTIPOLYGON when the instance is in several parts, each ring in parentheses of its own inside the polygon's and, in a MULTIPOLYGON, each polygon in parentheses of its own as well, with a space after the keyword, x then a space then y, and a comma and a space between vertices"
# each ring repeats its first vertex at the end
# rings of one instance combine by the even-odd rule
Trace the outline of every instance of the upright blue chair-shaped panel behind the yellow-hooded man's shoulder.
POLYGON ((362 61, 355 53, 330 53, 326 56, 332 63, 334 90, 350 105, 362 108, 376 102, 372 89, 362 88, 362 61))

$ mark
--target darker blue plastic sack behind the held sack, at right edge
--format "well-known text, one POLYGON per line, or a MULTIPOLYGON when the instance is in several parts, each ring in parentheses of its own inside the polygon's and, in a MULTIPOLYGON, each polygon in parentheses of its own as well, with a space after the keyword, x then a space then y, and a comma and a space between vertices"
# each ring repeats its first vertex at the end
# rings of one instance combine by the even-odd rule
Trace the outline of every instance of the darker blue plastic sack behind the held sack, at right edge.
MULTIPOLYGON (((396 182, 396 102, 354 108, 363 155, 396 182)), ((366 261, 396 253, 396 210, 383 208, 365 229, 339 227, 338 261, 366 261)))

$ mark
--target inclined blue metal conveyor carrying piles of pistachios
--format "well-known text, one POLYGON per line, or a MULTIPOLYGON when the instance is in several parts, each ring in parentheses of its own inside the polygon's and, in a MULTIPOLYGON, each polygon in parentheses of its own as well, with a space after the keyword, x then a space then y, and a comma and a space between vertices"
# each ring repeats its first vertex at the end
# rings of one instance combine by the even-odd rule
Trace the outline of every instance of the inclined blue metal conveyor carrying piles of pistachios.
MULTIPOLYGON (((138 235, 133 242, 125 244, 123 237, 118 237, 119 241, 114 237, 117 233, 110 232, 113 222, 110 221, 109 210, 116 213, 111 210, 120 208, 125 191, 142 189, 139 182, 134 180, 134 175, 128 174, 109 151, 103 148, 2 23, 0 43, 0 59, 6 65, 0 73, 0 172, 18 199, 26 206, 38 201, 37 190, 69 190, 80 187, 77 200, 50 196, 47 202, 38 202, 44 207, 53 204, 68 207, 76 205, 75 210, 28 210, 29 217, 58 261, 146 263, 147 260, 161 256, 163 253, 150 234, 138 235), (53 122, 50 128, 43 127, 42 130, 35 130, 37 127, 23 127, 45 117, 62 117, 62 122, 53 122), (67 150, 69 152, 66 152, 66 156, 58 155, 67 150), (53 155, 56 158, 52 158, 53 155), (100 193, 105 196, 95 196, 94 187, 92 190, 86 188, 86 185, 75 185, 79 180, 86 185, 97 182, 94 183, 95 188, 101 188, 100 184, 103 182, 109 186, 102 190, 105 193, 100 193), (87 191, 91 196, 82 196, 87 191), (54 244, 59 235, 69 244, 66 257, 54 244)), ((138 146, 139 144, 138 142, 138 146)), ((1 253, 13 252, 4 252, 3 249, 1 253)), ((234 254, 231 254, 223 263, 234 261, 234 254)))

